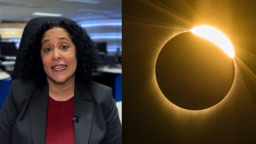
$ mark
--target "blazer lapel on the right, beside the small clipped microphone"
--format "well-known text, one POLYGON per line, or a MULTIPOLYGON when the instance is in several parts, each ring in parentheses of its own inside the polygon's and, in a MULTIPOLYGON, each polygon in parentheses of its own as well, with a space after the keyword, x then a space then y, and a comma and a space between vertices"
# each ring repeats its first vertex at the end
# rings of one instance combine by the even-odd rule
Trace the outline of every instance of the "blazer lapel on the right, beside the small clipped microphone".
POLYGON ((77 82, 75 85, 74 120, 75 144, 88 144, 92 127, 93 99, 86 85, 77 82))

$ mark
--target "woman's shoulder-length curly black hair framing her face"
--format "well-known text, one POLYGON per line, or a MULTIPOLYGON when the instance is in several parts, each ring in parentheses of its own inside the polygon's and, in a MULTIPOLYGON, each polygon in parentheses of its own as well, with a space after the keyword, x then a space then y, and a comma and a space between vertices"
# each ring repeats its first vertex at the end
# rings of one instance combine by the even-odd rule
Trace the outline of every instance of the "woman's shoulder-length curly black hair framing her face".
POLYGON ((24 55, 21 65, 22 79, 35 79, 38 85, 46 80, 46 73, 40 56, 41 40, 45 31, 54 27, 64 28, 76 46, 76 79, 82 80, 86 84, 90 83, 92 73, 98 66, 97 50, 85 29, 70 19, 38 25, 26 47, 21 51, 24 55))

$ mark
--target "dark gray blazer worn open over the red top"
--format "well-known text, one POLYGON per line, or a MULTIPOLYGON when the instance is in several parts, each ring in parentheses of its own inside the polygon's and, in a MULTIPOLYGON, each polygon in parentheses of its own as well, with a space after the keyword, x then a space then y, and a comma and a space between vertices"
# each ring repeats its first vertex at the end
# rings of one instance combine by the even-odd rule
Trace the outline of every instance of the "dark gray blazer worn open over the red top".
MULTIPOLYGON (((45 144, 49 86, 13 80, 0 110, 0 144, 45 144)), ((121 144, 121 122, 110 87, 75 84, 75 144, 121 144)))

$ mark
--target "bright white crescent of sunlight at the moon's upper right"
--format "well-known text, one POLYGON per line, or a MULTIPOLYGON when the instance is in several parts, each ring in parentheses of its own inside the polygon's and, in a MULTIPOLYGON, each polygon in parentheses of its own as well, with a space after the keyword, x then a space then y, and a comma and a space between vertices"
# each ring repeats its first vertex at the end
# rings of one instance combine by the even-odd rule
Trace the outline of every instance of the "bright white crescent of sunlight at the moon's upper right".
POLYGON ((235 52, 232 43, 228 37, 216 28, 211 26, 196 26, 190 30, 195 35, 198 35, 206 40, 210 40, 218 45, 228 56, 234 58, 235 52))

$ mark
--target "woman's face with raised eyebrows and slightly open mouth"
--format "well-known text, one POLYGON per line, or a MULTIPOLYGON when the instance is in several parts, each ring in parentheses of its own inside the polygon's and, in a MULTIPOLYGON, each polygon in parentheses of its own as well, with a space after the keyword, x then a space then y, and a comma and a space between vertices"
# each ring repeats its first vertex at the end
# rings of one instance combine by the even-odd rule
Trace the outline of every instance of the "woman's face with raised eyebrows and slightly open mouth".
POLYGON ((69 83, 75 79, 76 47, 64 28, 45 31, 41 40, 41 58, 48 82, 69 83))

